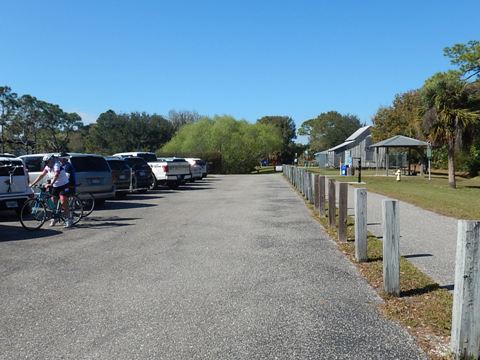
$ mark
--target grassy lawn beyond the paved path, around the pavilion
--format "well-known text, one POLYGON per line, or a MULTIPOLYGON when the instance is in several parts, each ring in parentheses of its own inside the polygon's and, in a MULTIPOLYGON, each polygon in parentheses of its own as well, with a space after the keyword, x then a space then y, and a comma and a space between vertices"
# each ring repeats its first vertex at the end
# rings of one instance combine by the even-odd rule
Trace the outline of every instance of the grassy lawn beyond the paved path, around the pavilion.
MULTIPOLYGON (((358 180, 358 176, 340 176, 339 170, 310 169, 339 181, 358 180)), ((458 219, 480 219, 480 176, 471 179, 457 176, 457 189, 451 189, 448 186, 448 176, 441 172, 432 174, 432 180, 422 176, 402 176, 399 182, 395 180, 393 171, 388 177, 384 176, 384 170, 380 173, 382 175, 376 176, 375 171, 362 171, 362 182, 365 184, 358 186, 438 214, 458 219)))

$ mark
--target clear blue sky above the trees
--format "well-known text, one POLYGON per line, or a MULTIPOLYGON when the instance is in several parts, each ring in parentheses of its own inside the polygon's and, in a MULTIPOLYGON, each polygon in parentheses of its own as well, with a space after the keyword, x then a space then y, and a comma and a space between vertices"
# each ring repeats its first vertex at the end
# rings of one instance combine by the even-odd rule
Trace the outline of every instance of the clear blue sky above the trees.
POLYGON ((76 111, 369 124, 479 40, 480 1, 0 0, 0 85, 76 111))

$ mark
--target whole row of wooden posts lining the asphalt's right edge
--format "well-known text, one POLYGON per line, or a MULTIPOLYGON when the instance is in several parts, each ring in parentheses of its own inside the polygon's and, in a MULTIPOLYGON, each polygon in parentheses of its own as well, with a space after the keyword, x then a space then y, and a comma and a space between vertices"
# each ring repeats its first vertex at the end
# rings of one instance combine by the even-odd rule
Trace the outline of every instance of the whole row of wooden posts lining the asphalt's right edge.
MULTIPOLYGON (((338 239, 347 241, 348 184, 339 183, 337 225, 335 180, 296 166, 284 165, 283 173, 321 216, 328 217, 329 226, 338 230, 338 239)), ((364 262, 368 260, 367 190, 364 188, 354 189, 354 224, 355 259, 364 262)), ((400 296, 400 213, 397 200, 383 200, 382 226, 384 291, 400 296)), ((480 221, 458 221, 451 347, 456 359, 480 359, 480 221)))

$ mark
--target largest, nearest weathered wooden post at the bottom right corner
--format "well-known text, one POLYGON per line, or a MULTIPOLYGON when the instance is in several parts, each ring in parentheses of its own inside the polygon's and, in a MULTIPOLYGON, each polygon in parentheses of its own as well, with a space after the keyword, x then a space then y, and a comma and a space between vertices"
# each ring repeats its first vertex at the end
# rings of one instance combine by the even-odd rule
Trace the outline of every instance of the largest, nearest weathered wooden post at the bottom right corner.
POLYGON ((451 346, 455 359, 480 357, 480 221, 458 221, 451 346))

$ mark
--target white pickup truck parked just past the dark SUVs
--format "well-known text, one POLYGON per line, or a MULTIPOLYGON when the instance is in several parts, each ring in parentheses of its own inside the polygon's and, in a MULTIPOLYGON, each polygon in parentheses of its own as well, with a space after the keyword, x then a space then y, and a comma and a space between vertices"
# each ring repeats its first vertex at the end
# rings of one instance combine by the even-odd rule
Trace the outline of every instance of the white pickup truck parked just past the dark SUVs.
POLYGON ((176 188, 180 184, 184 184, 190 180, 190 164, 185 159, 180 158, 162 158, 157 159, 151 152, 125 152, 114 154, 113 156, 121 156, 128 158, 130 156, 138 156, 145 159, 152 169, 151 188, 157 185, 167 185, 169 188, 176 188))

